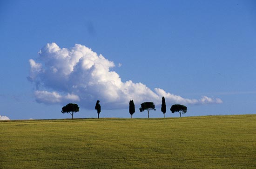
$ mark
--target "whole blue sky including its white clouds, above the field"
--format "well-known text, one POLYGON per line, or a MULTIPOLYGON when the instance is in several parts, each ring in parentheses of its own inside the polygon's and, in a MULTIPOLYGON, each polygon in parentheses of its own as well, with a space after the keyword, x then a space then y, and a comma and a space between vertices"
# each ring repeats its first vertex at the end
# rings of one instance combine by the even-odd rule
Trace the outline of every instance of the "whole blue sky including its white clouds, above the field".
POLYGON ((162 96, 166 117, 176 103, 184 116, 256 112, 254 0, 1 0, 0 39, 9 119, 70 118, 69 102, 74 118, 96 118, 98 99, 100 117, 130 117, 130 99, 134 118, 147 117, 142 100, 162 117, 162 96))

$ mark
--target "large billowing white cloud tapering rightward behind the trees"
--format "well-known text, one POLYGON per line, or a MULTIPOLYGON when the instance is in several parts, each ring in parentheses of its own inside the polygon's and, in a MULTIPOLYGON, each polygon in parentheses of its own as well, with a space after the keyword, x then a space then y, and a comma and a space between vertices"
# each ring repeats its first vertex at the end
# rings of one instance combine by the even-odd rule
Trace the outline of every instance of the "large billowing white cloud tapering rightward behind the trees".
MULTIPOLYGON (((221 99, 202 96, 201 99, 185 99, 165 92, 154 91, 142 83, 122 82, 120 76, 110 69, 115 64, 104 56, 81 44, 73 48, 60 48, 47 44, 40 50, 38 62, 29 60, 28 80, 36 87, 35 98, 40 103, 65 105, 78 103, 85 108, 94 108, 96 100, 107 109, 126 108, 129 100, 135 104, 152 101, 161 104, 162 96, 171 104, 212 104, 222 103, 221 99)), ((121 66, 121 64, 119 64, 121 66)))

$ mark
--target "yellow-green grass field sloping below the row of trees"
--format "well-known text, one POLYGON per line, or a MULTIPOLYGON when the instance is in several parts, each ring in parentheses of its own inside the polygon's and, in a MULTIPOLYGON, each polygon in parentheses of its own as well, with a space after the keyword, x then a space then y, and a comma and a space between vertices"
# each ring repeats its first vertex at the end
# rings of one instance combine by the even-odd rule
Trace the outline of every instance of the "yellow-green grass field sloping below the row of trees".
POLYGON ((1 169, 256 169, 256 114, 0 121, 1 169))

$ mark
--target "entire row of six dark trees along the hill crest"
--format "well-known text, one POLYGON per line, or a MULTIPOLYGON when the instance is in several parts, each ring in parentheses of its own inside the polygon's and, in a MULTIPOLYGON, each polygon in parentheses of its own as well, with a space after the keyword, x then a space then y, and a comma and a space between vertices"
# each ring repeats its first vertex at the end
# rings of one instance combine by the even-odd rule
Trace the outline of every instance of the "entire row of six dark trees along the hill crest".
MULTIPOLYGON (((149 118, 149 111, 150 110, 155 110, 155 105, 153 102, 144 102, 141 103, 141 107, 139 108, 140 112, 143 112, 144 110, 148 111, 148 118, 149 118)), ((97 100, 96 105, 95 105, 95 110, 97 110, 98 113, 98 119, 99 115, 101 113, 101 105, 100 105, 100 100, 97 100)), ((180 113, 180 117, 182 117, 182 114, 187 113, 187 107, 184 105, 172 105, 170 108, 170 111, 172 113, 178 112, 180 113)), ((61 113, 69 113, 72 116, 72 119, 74 119, 73 114, 79 112, 79 106, 74 103, 68 103, 66 106, 62 107, 61 113)), ((161 106, 161 112, 163 113, 163 117, 165 118, 165 113, 166 113, 166 104, 165 104, 165 98, 162 97, 162 106, 161 106)), ((135 113, 135 104, 133 100, 130 100, 129 102, 129 113, 131 114, 131 118, 133 118, 133 114, 135 113)))

